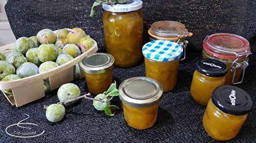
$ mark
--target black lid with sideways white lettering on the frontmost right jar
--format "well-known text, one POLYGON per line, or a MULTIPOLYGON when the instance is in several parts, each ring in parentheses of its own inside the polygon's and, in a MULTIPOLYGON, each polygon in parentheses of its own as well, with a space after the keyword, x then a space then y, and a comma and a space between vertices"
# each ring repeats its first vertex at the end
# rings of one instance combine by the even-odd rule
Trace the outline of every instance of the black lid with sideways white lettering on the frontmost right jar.
POLYGON ((217 108, 231 115, 245 115, 252 106, 250 96, 242 89, 224 85, 214 90, 211 96, 217 108))

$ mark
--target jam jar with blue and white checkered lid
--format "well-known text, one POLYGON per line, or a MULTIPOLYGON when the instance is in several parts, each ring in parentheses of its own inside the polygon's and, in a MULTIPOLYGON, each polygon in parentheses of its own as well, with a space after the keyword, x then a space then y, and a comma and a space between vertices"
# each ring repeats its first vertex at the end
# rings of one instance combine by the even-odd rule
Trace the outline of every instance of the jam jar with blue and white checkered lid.
POLYGON ((167 40, 151 41, 143 46, 142 53, 145 57, 146 76, 160 82, 163 92, 173 90, 183 53, 181 45, 167 40))

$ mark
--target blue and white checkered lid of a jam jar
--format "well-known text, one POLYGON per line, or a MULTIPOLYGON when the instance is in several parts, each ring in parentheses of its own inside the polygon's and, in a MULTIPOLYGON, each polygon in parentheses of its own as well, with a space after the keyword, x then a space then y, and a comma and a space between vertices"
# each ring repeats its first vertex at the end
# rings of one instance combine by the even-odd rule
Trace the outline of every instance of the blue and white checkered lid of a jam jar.
POLYGON ((168 62, 180 59, 183 48, 174 41, 156 40, 146 43, 142 48, 142 53, 147 59, 168 62))

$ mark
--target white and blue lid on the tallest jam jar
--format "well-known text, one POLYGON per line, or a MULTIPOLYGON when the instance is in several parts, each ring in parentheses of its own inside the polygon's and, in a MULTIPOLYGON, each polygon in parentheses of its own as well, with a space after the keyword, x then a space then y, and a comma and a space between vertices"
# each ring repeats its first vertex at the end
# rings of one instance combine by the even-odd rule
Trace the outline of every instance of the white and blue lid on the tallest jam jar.
POLYGON ((125 4, 116 4, 114 6, 103 4, 102 8, 111 12, 130 12, 136 11, 142 8, 141 0, 128 0, 125 4))

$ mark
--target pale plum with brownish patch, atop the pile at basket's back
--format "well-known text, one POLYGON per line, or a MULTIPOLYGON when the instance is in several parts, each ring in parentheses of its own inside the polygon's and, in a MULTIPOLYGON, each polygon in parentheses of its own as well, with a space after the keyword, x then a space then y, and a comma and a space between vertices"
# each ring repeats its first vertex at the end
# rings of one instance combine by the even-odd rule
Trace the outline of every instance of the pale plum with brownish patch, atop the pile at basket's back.
POLYGON ((36 37, 41 44, 55 44, 56 42, 56 35, 50 29, 39 31, 36 37))

